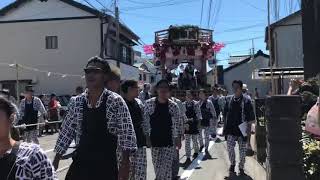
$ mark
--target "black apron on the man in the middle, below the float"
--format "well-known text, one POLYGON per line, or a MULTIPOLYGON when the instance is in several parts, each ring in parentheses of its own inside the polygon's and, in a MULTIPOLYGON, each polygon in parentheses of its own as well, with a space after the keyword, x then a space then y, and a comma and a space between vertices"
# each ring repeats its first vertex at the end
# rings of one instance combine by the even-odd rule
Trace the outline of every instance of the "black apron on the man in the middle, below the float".
POLYGON ((169 112, 169 104, 160 104, 156 99, 154 113, 150 116, 151 145, 152 147, 171 147, 172 119, 169 112))

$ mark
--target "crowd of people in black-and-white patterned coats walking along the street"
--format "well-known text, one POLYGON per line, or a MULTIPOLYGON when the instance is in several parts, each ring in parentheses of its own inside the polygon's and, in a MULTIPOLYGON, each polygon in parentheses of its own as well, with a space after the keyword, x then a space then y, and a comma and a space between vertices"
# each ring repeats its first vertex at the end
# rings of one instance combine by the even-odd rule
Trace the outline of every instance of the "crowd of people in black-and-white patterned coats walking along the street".
POLYGON ((219 124, 223 124, 228 145, 230 175, 236 174, 236 142, 240 150, 239 172, 245 175, 249 127, 255 118, 241 81, 232 83, 231 96, 218 87, 213 88, 211 96, 204 89, 197 94, 187 90, 182 102, 172 97, 174 86, 166 79, 156 84, 155 94, 150 93, 149 84, 140 93, 137 81, 120 84, 119 73, 99 57, 89 59, 84 72, 86 89, 78 89, 77 96, 70 99, 52 163, 36 145, 36 126, 28 124, 36 124, 39 114, 44 119, 49 116, 57 120, 59 103, 55 96, 51 96, 48 111, 41 99, 33 96, 32 87, 26 89, 19 108, 14 108, 7 97, 0 97, 0 179, 57 179, 55 170, 72 142, 76 150, 66 175, 68 180, 145 180, 147 148, 151 149, 157 180, 179 179, 182 141, 185 140, 187 156, 184 165, 188 167, 202 151, 206 157, 211 156, 209 142, 219 140, 219 124), (25 126, 26 142, 11 137, 16 123, 25 126))

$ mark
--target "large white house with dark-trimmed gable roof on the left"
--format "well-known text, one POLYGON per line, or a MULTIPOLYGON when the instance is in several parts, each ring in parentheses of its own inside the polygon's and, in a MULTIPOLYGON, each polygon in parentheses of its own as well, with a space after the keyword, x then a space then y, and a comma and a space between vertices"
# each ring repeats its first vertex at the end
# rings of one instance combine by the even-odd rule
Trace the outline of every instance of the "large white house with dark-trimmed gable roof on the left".
MULTIPOLYGON (((90 57, 115 62, 115 30, 112 16, 74 0, 17 0, 0 10, 0 84, 16 94, 18 77, 19 92, 33 84, 36 94, 73 94, 90 57)), ((130 74, 138 40, 120 24, 122 79, 138 78, 130 74)))

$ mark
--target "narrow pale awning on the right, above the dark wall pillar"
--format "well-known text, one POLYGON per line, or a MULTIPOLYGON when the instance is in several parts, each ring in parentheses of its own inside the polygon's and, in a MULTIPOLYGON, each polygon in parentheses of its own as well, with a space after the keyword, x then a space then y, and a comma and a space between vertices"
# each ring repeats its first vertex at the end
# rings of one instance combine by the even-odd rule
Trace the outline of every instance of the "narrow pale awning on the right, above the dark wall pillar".
MULTIPOLYGON (((274 79, 292 79, 292 78, 304 78, 303 67, 281 67, 273 69, 274 79)), ((270 68, 256 69, 252 72, 252 79, 264 80, 271 79, 270 68)))

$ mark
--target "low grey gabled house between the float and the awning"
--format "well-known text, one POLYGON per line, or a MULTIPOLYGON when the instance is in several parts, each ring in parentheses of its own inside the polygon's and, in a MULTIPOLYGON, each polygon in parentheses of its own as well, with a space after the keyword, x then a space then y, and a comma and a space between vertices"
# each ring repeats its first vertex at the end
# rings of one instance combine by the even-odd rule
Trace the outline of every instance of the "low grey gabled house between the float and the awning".
POLYGON ((232 82, 242 80, 248 85, 249 92, 254 93, 258 89, 260 96, 264 96, 270 90, 269 81, 255 80, 252 72, 255 69, 267 68, 269 66, 269 55, 259 50, 253 57, 248 57, 223 70, 224 85, 229 93, 232 93, 232 82))

